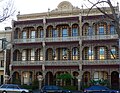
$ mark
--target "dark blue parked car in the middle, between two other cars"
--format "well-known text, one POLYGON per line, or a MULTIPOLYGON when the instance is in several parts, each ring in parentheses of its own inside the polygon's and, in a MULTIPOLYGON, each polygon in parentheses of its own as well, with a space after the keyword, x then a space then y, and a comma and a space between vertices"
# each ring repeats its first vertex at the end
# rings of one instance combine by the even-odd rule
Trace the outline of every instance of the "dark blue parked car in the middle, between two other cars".
POLYGON ((46 85, 42 87, 41 93, 72 93, 72 91, 55 85, 46 85))

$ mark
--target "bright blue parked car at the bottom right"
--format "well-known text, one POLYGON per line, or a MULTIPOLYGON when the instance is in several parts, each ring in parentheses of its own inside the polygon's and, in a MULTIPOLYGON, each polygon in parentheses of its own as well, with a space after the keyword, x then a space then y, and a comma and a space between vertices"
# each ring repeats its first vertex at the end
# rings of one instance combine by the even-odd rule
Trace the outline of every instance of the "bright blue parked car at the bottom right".
POLYGON ((94 85, 84 89, 84 93, 119 93, 119 91, 111 90, 105 86, 94 85))

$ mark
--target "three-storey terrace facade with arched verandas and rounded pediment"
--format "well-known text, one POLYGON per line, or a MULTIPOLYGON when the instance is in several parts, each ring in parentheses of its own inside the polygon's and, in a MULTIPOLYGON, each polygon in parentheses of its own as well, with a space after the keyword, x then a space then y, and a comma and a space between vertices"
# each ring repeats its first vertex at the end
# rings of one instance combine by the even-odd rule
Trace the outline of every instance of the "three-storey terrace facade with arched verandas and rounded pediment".
MULTIPOLYGON (((112 17, 109 7, 104 8, 112 17)), ((107 80, 119 88, 120 40, 114 20, 96 8, 61 2, 55 10, 17 16, 13 21, 12 82, 32 84, 38 75, 43 84, 89 86, 107 80), (69 83, 57 77, 69 74, 69 83)), ((119 6, 115 7, 116 14, 119 6)))

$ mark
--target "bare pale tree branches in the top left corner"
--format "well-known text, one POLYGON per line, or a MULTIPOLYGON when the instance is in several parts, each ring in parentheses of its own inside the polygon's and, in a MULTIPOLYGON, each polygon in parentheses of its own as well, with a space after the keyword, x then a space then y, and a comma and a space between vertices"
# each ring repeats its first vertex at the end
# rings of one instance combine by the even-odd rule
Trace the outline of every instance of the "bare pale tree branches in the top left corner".
POLYGON ((0 23, 13 16, 15 8, 13 0, 0 0, 0 23))

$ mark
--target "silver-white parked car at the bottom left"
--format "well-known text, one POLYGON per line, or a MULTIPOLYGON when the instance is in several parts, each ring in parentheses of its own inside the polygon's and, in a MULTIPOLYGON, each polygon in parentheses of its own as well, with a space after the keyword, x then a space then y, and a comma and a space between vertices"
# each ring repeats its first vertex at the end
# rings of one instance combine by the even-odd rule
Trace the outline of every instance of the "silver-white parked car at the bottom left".
POLYGON ((0 86, 0 93, 32 93, 28 89, 21 88, 17 84, 3 84, 0 86))

